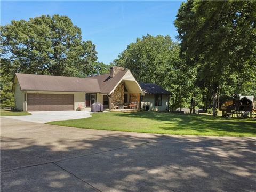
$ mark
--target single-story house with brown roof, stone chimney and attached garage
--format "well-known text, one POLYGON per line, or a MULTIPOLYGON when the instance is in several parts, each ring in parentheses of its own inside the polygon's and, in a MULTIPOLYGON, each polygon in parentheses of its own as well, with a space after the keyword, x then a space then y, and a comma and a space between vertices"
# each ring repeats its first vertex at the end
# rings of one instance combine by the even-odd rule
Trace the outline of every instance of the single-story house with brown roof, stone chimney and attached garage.
POLYGON ((24 111, 81 110, 81 106, 91 110, 94 102, 109 110, 165 111, 170 95, 155 84, 139 84, 129 69, 116 66, 108 74, 86 78, 16 73, 13 91, 15 108, 24 111))

